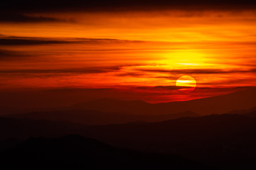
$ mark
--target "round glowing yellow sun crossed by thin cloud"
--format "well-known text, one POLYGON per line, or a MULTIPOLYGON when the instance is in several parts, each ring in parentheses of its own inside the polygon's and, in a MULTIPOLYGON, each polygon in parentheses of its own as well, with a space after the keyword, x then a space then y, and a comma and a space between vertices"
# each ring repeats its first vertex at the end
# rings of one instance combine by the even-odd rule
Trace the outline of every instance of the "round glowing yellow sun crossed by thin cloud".
POLYGON ((196 89, 196 80, 191 76, 182 76, 176 80, 178 91, 189 92, 196 89))

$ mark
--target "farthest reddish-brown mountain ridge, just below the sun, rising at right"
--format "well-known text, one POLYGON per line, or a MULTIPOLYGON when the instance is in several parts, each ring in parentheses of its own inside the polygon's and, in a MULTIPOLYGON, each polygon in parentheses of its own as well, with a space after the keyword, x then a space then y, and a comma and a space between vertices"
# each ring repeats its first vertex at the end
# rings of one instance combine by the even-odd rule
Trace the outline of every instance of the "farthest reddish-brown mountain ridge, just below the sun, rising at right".
POLYGON ((93 110, 110 113, 130 113, 134 115, 169 115, 191 111, 199 115, 224 114, 235 110, 244 110, 256 106, 256 89, 237 91, 224 96, 201 98, 192 101, 169 103, 146 103, 144 101, 119 101, 101 99, 78 103, 66 110, 93 110))

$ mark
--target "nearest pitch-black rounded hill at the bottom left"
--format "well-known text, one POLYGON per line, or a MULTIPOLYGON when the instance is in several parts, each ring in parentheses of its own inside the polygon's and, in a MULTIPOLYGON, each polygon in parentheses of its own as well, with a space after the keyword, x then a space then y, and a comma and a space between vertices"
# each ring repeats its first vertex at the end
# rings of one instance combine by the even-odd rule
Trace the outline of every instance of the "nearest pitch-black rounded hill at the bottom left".
POLYGON ((8 169, 212 169, 178 156, 136 152, 86 137, 30 138, 0 152, 8 169))

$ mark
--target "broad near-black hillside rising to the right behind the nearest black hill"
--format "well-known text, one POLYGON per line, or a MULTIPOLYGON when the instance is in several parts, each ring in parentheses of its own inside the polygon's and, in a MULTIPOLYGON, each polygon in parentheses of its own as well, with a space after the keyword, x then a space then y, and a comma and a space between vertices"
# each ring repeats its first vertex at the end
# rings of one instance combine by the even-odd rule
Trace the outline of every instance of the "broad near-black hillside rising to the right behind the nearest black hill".
POLYGON ((159 123, 81 125, 0 118, 0 140, 79 134, 115 147, 176 154, 224 169, 256 168, 256 112, 159 123))

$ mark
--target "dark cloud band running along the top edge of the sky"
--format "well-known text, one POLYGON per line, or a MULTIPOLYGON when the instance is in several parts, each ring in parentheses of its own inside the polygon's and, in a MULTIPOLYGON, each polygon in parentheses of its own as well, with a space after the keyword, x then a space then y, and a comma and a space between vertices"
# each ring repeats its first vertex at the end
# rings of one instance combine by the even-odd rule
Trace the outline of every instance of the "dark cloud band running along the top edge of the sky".
POLYGON ((42 12, 42 11, 134 11, 134 10, 159 10, 159 9, 189 9, 189 8, 214 8, 214 9, 255 9, 256 1, 252 0, 24 0, 24 1, 3 1, 1 2, 1 11, 25 11, 25 12, 42 12))

